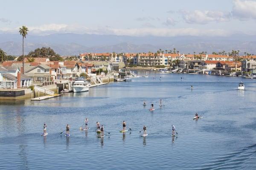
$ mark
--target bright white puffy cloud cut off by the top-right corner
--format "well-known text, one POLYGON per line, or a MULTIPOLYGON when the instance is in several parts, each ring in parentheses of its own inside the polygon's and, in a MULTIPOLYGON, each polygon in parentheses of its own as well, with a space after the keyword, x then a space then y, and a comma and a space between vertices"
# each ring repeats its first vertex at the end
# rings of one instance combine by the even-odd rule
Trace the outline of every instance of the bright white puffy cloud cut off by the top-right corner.
POLYGON ((234 0, 232 14, 239 20, 256 19, 256 1, 234 0))

